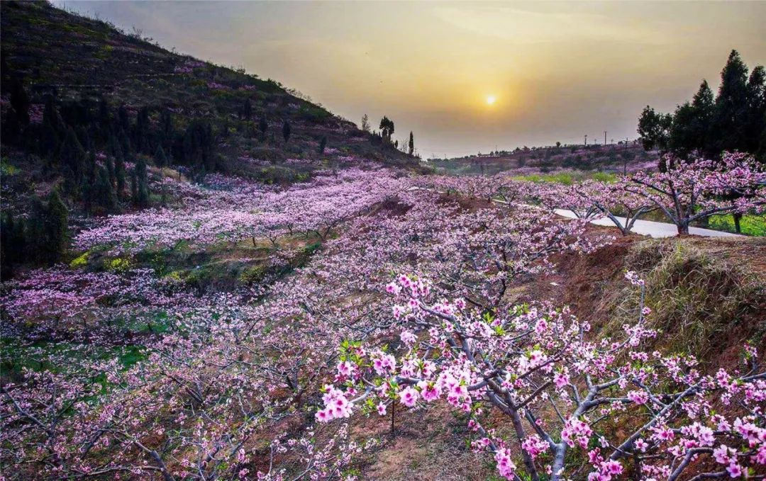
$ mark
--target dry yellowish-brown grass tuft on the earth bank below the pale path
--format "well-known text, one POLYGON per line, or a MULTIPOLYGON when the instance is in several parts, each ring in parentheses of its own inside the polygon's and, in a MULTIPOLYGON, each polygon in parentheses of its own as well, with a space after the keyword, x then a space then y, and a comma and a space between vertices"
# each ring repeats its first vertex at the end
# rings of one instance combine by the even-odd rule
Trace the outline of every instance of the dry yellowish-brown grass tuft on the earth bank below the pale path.
MULTIPOLYGON (((725 345, 722 336, 755 315, 766 296, 756 275, 684 241, 641 242, 626 264, 647 281, 648 327, 659 331, 656 342, 676 353, 704 358, 715 352, 725 345)), ((624 288, 615 299, 617 314, 604 327, 606 333, 619 332, 637 314, 636 289, 624 288)))

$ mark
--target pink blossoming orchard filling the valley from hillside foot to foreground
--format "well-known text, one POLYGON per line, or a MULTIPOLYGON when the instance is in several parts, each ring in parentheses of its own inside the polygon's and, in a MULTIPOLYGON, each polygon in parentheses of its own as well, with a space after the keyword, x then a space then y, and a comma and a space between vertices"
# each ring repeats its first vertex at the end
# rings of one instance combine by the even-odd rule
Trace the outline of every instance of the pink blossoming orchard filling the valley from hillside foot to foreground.
POLYGON ((218 175, 162 188, 177 202, 74 236, 112 268, 2 284, 18 358, 0 393, 6 478, 350 478, 378 445, 355 433, 358 415, 441 403, 508 479, 763 472, 754 348, 741 369, 709 375, 691 356, 643 349, 656 335, 648 310, 594 333, 548 300, 516 305, 516 282, 554 272, 556 255, 611 242, 588 232, 595 213, 550 212, 592 210, 581 193, 597 185, 349 168, 283 190, 218 175), (227 292, 156 265, 179 244, 200 259, 268 245, 281 262, 296 238, 321 248, 227 292))

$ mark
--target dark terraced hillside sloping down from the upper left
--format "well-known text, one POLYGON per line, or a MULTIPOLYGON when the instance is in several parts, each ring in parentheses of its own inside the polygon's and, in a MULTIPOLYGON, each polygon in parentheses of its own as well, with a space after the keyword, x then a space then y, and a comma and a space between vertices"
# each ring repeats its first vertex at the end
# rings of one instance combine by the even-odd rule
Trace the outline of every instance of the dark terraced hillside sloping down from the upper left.
MULTIPOLYGON (((78 135, 86 149, 93 144, 97 151, 107 151, 107 135, 94 131, 121 122, 114 129, 128 131, 137 153, 152 156, 162 144, 173 163, 188 165, 182 137, 189 125, 205 121, 216 158, 208 162, 208 171, 212 167, 267 182, 290 182, 317 168, 354 164, 362 157, 417 167, 414 159, 392 147, 372 145, 375 138, 352 122, 274 80, 175 54, 139 34, 125 34, 44 2, 2 2, 5 117, 15 83, 28 96, 32 130, 43 122, 44 104, 52 97, 64 122, 87 132, 87 139, 78 135), (118 112, 121 106, 124 112, 118 112), (139 113, 148 118, 148 127, 136 125, 139 113), (120 117, 125 114, 126 119, 120 117), (285 122, 290 124, 288 141, 283 139, 285 122), (146 129, 148 140, 137 138, 137 128, 146 129)), ((17 136, 8 128, 4 146, 17 136)), ((4 156, 12 157, 12 152, 6 149, 4 156)))

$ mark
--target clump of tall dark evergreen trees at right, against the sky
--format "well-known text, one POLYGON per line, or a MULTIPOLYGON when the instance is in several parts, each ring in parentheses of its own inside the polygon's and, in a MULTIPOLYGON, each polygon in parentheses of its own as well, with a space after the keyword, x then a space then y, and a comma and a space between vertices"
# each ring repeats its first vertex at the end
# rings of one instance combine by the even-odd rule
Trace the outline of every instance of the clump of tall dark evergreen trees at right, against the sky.
MULTIPOLYGON (((643 148, 673 153, 680 159, 695 152, 718 158, 723 151, 740 151, 766 161, 766 70, 758 66, 748 76, 745 62, 732 50, 716 96, 702 80, 691 102, 673 113, 647 106, 638 133, 643 148)), ((672 168, 660 162, 663 171, 672 168)))

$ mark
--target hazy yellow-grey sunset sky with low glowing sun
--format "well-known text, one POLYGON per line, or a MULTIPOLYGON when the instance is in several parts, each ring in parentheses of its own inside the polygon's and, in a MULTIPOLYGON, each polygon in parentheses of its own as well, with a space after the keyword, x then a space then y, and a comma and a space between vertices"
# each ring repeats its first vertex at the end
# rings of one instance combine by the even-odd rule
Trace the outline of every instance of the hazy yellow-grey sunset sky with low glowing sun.
POLYGON ((766 63, 766 2, 56 2, 279 80, 424 156, 635 138, 729 51, 766 63), (488 102, 493 97, 494 102, 488 102))

